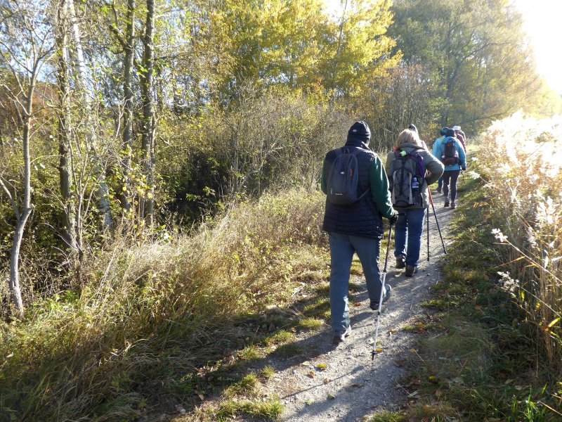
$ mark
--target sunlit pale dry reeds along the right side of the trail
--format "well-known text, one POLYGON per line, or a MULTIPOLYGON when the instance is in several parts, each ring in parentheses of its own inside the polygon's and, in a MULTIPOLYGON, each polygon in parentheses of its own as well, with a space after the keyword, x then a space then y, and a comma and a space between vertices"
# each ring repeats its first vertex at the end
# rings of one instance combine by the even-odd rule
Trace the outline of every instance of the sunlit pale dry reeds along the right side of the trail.
POLYGON ((535 328, 537 364, 562 369, 562 116, 521 113, 483 134, 478 160, 507 270, 499 271, 535 328))

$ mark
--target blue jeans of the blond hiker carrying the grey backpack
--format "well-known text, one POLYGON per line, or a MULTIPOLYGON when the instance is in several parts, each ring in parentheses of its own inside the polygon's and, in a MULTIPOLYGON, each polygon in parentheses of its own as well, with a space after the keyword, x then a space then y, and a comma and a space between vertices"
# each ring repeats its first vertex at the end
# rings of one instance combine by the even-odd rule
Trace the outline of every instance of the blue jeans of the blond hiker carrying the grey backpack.
POLYGON ((417 267, 421 234, 424 231, 425 208, 400 210, 394 234, 394 256, 406 259, 406 265, 417 267), (406 245, 407 239, 407 245, 406 245))

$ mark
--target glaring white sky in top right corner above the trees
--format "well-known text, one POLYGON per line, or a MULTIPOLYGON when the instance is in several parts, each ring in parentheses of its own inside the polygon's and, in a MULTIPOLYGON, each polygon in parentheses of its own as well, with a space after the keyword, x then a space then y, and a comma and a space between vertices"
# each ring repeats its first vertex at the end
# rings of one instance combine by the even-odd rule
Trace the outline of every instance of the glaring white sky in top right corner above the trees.
MULTIPOLYGON (((525 19, 524 29, 535 49, 538 72, 562 94, 562 0, 510 0, 525 19)), ((330 11, 341 0, 325 0, 330 11)))

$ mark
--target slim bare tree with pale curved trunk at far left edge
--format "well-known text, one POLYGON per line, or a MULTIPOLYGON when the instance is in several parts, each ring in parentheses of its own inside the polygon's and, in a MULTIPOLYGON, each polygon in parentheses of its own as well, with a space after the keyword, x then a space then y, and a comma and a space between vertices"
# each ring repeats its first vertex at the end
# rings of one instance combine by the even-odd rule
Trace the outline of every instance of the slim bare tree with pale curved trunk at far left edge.
POLYGON ((15 215, 13 245, 10 255, 9 289, 18 316, 23 316, 24 305, 20 286, 20 249, 32 205, 32 159, 30 143, 34 135, 36 113, 35 89, 44 65, 53 54, 52 27, 48 25, 47 1, 6 1, 0 6, 0 60, 11 74, 10 82, 2 81, 8 101, 18 113, 23 155, 23 174, 20 183, 4 180, 0 188, 10 201, 15 215))

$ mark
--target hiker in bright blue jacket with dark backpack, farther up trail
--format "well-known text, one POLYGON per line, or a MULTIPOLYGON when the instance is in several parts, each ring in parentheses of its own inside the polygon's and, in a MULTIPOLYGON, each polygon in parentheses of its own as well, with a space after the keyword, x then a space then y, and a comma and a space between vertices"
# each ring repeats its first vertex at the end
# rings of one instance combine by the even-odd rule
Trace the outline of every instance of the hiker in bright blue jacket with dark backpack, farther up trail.
POLYGON ((450 205, 451 208, 456 208, 457 181, 461 170, 466 170, 466 155, 459 139, 455 137, 453 129, 449 129, 445 134, 445 139, 440 142, 437 148, 436 156, 445 165, 445 172, 443 172, 445 207, 450 205), (449 191, 451 193, 450 200, 449 191))

